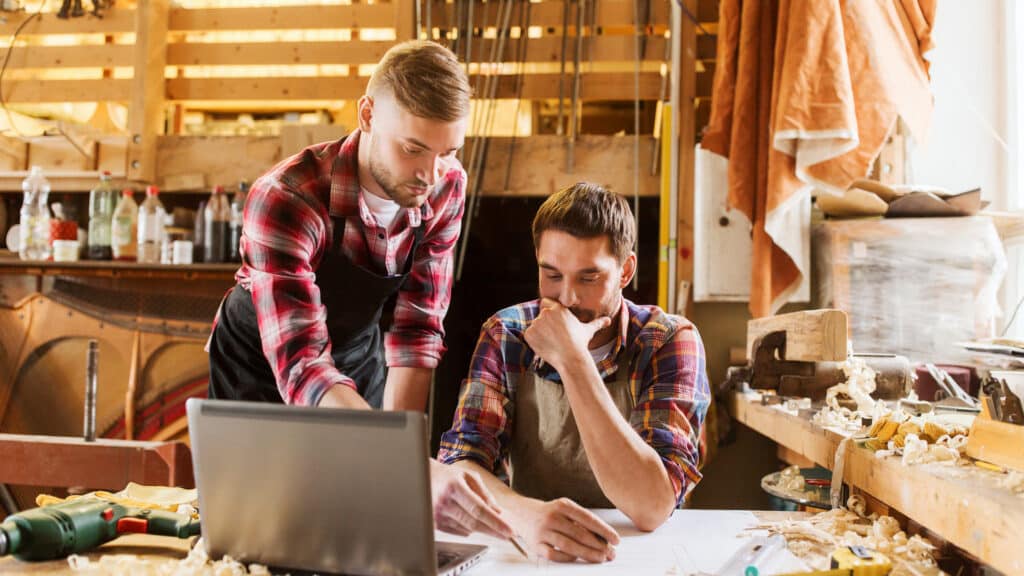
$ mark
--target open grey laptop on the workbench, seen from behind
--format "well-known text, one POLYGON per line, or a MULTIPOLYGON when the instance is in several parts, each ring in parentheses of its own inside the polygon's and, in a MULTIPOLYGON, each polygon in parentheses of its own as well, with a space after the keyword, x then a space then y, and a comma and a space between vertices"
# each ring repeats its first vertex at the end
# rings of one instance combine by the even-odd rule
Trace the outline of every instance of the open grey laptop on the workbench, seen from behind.
POLYGON ((450 576, 486 550, 434 542, 424 414, 196 398, 186 410, 211 558, 450 576))

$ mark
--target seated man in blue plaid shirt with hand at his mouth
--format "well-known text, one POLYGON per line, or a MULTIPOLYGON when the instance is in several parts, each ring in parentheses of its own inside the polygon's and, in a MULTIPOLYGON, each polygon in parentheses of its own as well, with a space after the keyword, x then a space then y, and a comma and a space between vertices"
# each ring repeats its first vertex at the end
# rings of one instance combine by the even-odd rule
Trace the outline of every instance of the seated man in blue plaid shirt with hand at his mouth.
POLYGON ((623 297, 634 238, 629 204, 599 186, 541 206, 541 298, 484 323, 441 438, 438 460, 477 471, 550 560, 611 560, 618 535, 588 507, 649 531, 700 480, 703 344, 686 319, 623 297))

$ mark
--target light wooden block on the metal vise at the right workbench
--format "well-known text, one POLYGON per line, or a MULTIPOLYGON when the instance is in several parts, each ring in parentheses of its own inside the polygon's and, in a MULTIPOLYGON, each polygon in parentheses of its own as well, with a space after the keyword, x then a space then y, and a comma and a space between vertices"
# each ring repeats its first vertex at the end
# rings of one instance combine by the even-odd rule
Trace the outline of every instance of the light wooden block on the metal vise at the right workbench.
POLYGON ((776 331, 785 332, 785 358, 780 360, 846 360, 847 317, 841 310, 795 312, 748 322, 748 358, 754 358, 754 340, 776 331))

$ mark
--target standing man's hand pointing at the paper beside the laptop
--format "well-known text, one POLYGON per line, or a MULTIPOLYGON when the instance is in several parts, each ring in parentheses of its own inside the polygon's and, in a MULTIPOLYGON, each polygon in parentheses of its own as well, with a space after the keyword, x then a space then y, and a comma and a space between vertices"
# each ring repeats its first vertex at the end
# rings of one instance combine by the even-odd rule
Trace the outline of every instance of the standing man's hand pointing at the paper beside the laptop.
POLYGON ((512 527, 475 471, 431 459, 430 492, 438 530, 459 536, 483 532, 503 540, 512 537, 512 527))

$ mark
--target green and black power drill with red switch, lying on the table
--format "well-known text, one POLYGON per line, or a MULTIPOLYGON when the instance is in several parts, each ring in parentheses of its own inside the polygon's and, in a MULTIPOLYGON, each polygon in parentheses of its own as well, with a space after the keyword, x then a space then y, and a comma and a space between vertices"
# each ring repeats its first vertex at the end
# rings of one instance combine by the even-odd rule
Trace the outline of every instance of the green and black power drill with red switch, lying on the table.
POLYGON ((90 550, 127 533, 188 538, 199 531, 199 520, 187 515, 78 498, 4 519, 0 524, 0 557, 54 560, 90 550))

